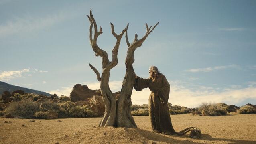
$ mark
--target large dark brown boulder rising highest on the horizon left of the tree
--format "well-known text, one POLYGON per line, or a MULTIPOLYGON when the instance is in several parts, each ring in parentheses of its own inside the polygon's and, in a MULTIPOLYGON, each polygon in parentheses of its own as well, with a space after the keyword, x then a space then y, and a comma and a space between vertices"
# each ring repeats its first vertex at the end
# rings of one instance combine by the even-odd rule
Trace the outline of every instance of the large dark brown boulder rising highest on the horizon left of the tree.
POLYGON ((93 95, 101 96, 100 90, 91 90, 87 85, 76 84, 70 93, 70 99, 72 102, 88 101, 93 95))

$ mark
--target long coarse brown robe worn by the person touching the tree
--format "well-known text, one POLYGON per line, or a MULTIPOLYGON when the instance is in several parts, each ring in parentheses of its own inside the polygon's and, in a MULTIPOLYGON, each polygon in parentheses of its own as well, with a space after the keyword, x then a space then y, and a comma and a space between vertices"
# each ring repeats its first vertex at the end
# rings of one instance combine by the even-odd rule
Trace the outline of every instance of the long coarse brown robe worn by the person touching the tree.
POLYGON ((163 74, 159 74, 155 81, 152 78, 143 79, 137 77, 135 79, 134 89, 136 91, 141 91, 147 87, 151 91, 148 99, 148 108, 153 132, 177 134, 173 129, 167 105, 170 93, 170 84, 167 79, 163 74))

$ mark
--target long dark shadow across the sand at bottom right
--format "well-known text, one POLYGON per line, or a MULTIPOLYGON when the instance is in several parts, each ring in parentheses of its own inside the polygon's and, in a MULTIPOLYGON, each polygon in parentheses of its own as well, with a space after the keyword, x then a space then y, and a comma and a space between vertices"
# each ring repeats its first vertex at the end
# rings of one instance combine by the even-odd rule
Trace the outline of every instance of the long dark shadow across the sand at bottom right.
MULTIPOLYGON (((198 144, 198 142, 193 142, 193 138, 190 140, 176 140, 173 138, 168 137, 167 135, 163 134, 156 134, 153 132, 150 132, 148 130, 142 130, 140 128, 135 129, 141 136, 148 140, 152 141, 158 141, 158 142, 166 142, 166 143, 174 143, 174 144, 179 144, 179 143, 186 143, 186 144, 198 144)), ((177 135, 171 135, 172 137, 182 137, 182 138, 190 138, 188 135, 183 135, 183 136, 177 136, 177 135)), ((207 140, 207 141, 224 141, 227 143, 232 143, 232 144, 256 144, 256 141, 250 141, 250 140, 234 140, 234 139, 225 139, 225 138, 213 138, 209 134, 202 134, 200 139, 197 140, 207 140)))

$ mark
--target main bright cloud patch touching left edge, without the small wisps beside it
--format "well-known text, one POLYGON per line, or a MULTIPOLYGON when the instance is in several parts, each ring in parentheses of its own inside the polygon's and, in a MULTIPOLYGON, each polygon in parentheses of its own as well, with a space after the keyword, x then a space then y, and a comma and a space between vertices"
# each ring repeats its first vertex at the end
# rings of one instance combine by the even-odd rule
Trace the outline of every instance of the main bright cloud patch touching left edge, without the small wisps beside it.
POLYGON ((23 77, 22 74, 27 72, 29 72, 29 69, 22 69, 19 71, 3 71, 0 73, 0 81, 10 81, 10 79, 23 77))

